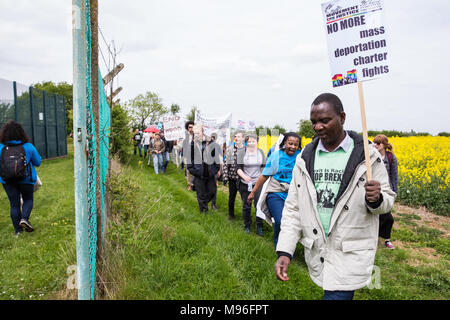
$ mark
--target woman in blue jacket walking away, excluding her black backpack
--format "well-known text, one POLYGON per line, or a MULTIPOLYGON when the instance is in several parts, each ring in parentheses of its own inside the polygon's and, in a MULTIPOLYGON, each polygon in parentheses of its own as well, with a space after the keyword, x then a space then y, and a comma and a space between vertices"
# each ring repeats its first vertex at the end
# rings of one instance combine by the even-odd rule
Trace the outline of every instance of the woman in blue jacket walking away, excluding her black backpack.
MULTIPOLYGON (((29 138, 25 133, 23 126, 13 120, 9 120, 0 130, 0 182, 5 189, 10 203, 11 220, 16 235, 19 235, 23 229, 27 232, 34 230, 29 219, 31 210, 33 209, 33 189, 37 180, 36 169, 41 165, 41 156, 36 148, 28 142, 29 138), (5 181, 4 172, 7 165, 5 157, 2 156, 6 152, 6 148, 15 146, 23 146, 26 157, 27 176, 19 181, 5 181), (20 206, 20 198, 23 199, 22 208, 20 206)), ((21 150, 21 149, 20 149, 21 150)))

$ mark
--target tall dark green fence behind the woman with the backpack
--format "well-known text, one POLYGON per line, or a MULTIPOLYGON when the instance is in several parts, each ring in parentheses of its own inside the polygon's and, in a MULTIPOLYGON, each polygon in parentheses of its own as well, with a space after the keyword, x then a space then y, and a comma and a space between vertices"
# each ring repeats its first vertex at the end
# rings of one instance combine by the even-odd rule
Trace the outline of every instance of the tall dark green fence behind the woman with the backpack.
POLYGON ((63 96, 0 79, 0 127, 9 119, 22 124, 43 159, 67 155, 63 96))

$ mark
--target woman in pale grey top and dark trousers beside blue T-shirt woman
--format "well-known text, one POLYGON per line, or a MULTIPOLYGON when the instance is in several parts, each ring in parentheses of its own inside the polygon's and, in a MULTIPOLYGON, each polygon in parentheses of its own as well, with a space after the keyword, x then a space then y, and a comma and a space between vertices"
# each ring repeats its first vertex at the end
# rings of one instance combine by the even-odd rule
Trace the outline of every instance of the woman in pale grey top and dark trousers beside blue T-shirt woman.
MULTIPOLYGON (((238 169, 237 174, 240 177, 239 193, 242 199, 242 219, 244 220, 244 231, 250 233, 252 225, 251 210, 252 202, 247 202, 250 192, 256 185, 259 176, 266 164, 264 151, 258 148, 258 137, 256 135, 248 135, 245 138, 247 147, 238 152, 238 169)), ((255 192, 254 206, 259 200, 261 190, 255 192)), ((256 217, 256 233, 263 236, 263 219, 256 217)))

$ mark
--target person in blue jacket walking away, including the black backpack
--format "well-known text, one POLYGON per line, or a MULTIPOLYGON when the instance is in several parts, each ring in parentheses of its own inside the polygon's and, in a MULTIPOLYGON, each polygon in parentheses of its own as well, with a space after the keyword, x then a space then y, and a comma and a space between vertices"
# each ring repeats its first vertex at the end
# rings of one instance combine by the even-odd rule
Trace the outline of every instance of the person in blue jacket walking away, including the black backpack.
POLYGON ((9 199, 15 235, 34 230, 29 219, 37 180, 34 167, 41 165, 41 156, 29 140, 23 126, 16 121, 9 120, 0 130, 0 183, 9 199))

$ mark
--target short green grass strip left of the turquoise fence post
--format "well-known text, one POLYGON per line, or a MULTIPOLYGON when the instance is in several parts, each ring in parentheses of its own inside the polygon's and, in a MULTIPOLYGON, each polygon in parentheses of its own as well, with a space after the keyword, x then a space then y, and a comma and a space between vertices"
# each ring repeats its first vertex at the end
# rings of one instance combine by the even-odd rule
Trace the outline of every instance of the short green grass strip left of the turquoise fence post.
MULTIPOLYGON (((37 168, 42 187, 34 194, 34 232, 14 235, 6 193, 0 192, 0 299, 53 299, 76 264, 73 156, 37 168)), ((3 188, 2 188, 3 189, 3 188)))

